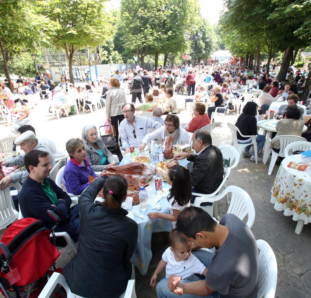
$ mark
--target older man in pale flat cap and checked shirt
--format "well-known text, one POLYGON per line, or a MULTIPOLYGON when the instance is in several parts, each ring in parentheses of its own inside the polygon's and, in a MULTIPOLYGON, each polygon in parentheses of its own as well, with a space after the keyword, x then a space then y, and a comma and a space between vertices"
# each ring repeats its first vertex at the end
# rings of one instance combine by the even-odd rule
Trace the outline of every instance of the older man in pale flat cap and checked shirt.
MULTIPOLYGON (((30 130, 26 131, 25 133, 22 133, 20 136, 18 136, 14 142, 16 145, 21 146, 21 149, 25 152, 25 154, 31 150, 42 150, 42 151, 48 152, 49 158, 51 161, 51 166, 53 167, 55 165, 52 152, 47 146, 40 144, 38 142, 38 139, 34 132, 30 130)), ((0 161, 0 166, 12 167, 15 165, 24 165, 25 154, 21 154, 16 157, 13 157, 9 159, 8 161, 0 161)), ((26 181, 27 177, 28 177, 27 171, 16 172, 16 173, 7 175, 0 181, 0 189, 1 190, 5 189, 11 183, 19 182, 23 184, 26 181)))

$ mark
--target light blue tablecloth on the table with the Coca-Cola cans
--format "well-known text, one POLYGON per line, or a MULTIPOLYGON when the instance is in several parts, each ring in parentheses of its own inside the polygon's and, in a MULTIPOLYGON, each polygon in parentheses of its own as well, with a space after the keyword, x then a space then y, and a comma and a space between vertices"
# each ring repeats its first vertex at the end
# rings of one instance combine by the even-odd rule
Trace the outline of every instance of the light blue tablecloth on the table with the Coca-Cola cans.
MULTIPOLYGON (((122 161, 120 162, 120 165, 127 165, 129 163, 130 162, 128 162, 126 157, 124 156, 122 161)), ((179 164, 189 169, 189 168, 192 168, 193 163, 190 161, 187 161, 187 159, 183 159, 179 161, 179 164)), ((150 165, 155 166, 155 163, 152 161, 150 165)), ((155 180, 152 179, 149 185, 153 187, 152 193, 157 194, 154 181, 155 180)), ((162 181, 162 188, 168 188, 168 187, 169 185, 165 181, 162 181)), ((147 210, 141 211, 141 213, 144 215, 143 219, 137 216, 134 217, 134 220, 137 222, 137 225, 138 225, 138 240, 137 240, 136 249, 131 258, 131 263, 134 264, 138 268, 139 272, 142 275, 145 275, 147 273, 148 266, 152 258, 152 252, 151 252, 152 233, 169 232, 172 230, 172 224, 170 221, 167 221, 162 218, 151 220, 147 216, 149 212, 169 213, 169 203, 167 201, 167 198, 161 198, 159 203, 161 203, 160 205, 162 207, 160 211, 156 209, 151 209, 152 206, 147 205, 147 210)))

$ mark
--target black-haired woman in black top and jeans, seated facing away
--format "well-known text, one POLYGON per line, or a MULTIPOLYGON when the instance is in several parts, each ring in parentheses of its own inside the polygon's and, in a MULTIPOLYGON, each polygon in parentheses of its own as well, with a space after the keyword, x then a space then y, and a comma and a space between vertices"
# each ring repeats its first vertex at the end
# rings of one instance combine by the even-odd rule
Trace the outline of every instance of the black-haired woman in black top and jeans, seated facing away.
MULTIPOLYGON (((256 102, 247 102, 244 106, 243 113, 239 116, 237 122, 235 123, 235 126, 239 128, 239 131, 244 136, 256 136, 257 152, 259 152, 266 141, 266 137, 262 134, 257 133, 257 108, 258 105, 256 104, 256 102)), ((241 137, 239 132, 237 132, 237 137, 239 144, 248 144, 252 141, 250 137, 241 137)), ((253 155, 249 153, 249 149, 251 147, 252 145, 246 146, 242 155, 251 156, 250 160, 255 161, 255 151, 253 150, 253 155)), ((258 161, 262 161, 262 158, 258 157, 258 161)))

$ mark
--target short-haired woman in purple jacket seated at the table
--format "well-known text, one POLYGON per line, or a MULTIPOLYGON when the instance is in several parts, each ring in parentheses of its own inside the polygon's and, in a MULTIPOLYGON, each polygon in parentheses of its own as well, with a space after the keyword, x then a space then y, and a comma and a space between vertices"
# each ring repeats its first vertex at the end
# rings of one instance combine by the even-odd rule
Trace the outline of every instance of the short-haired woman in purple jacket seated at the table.
POLYGON ((83 142, 79 138, 70 139, 66 143, 66 150, 70 156, 64 170, 65 187, 68 193, 80 195, 89 183, 89 175, 97 177, 86 158, 83 142))

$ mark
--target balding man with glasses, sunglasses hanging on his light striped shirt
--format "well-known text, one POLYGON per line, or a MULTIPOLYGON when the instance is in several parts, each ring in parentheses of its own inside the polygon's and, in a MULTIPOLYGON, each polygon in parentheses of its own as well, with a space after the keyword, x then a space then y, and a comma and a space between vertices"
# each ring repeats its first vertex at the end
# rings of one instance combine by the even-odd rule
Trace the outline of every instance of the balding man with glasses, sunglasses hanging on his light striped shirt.
POLYGON ((122 107, 125 119, 120 123, 120 136, 122 149, 125 154, 130 152, 130 146, 138 147, 145 135, 147 128, 160 128, 161 124, 150 118, 135 115, 135 107, 132 104, 125 104, 122 107))

